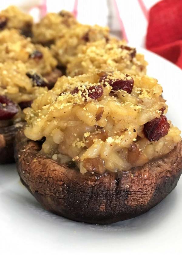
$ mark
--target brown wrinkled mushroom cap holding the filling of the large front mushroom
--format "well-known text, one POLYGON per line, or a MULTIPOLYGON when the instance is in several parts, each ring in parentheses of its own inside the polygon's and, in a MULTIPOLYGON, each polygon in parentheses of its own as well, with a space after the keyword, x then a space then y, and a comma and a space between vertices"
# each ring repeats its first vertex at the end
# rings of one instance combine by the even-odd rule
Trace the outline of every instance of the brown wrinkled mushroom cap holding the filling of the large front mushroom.
POLYGON ((81 174, 40 149, 19 130, 15 160, 22 183, 45 209, 79 222, 108 224, 139 216, 162 201, 182 173, 182 141, 156 161, 103 175, 81 174))

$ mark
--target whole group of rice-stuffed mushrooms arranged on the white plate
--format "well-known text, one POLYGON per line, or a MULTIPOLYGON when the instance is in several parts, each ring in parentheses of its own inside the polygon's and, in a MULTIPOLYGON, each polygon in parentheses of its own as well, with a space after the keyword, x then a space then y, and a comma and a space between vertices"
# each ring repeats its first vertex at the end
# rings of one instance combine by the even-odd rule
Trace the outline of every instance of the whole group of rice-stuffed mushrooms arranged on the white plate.
POLYGON ((42 206, 114 223, 147 212, 182 173, 180 130, 147 62, 69 12, 0 13, 0 159, 42 206), (14 146, 14 147, 13 147, 14 146))

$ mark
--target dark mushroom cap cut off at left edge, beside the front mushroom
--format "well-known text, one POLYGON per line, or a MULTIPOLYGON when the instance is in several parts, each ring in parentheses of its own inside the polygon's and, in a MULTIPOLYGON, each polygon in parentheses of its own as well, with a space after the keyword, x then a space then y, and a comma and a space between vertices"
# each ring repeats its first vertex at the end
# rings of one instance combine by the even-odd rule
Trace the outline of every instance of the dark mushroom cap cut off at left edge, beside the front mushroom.
POLYGON ((0 126, 0 164, 14 163, 14 139, 15 134, 23 126, 23 122, 7 125, 7 121, 1 121, 0 126))

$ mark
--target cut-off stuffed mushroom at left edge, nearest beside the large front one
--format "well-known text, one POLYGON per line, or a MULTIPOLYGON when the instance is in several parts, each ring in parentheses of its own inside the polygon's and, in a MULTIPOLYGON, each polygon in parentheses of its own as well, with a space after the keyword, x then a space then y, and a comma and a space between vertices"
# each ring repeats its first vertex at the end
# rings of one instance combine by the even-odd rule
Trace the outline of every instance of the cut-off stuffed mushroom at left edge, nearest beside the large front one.
POLYGON ((30 70, 22 61, 0 63, 0 164, 14 162, 15 132, 25 122, 22 110, 52 88, 55 71, 49 74, 48 82, 48 78, 30 70))

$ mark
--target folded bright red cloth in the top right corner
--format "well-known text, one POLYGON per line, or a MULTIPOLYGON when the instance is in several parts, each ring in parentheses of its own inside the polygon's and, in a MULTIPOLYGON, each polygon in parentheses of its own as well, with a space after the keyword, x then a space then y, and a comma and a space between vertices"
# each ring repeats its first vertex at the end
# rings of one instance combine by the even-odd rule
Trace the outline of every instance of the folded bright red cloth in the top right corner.
POLYGON ((146 47, 182 68, 182 0, 163 0, 150 9, 146 47))

